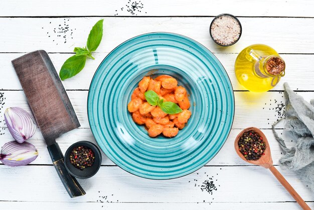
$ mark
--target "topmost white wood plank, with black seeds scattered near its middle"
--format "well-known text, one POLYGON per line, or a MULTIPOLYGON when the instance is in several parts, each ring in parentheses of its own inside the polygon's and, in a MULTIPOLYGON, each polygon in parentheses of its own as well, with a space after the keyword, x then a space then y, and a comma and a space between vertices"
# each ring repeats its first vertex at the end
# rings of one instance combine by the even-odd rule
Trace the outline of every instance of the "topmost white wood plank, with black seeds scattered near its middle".
MULTIPOLYGON (((4 1, 0 7, 1 16, 131 16, 126 11, 127 0, 74 1, 40 0, 4 1), (121 11, 121 8, 124 10, 121 11), (116 11, 117 10, 117 11, 116 11)), ((133 2, 133 1, 132 1, 133 2)), ((137 1, 139 2, 139 1, 137 1)), ((237 16, 297 16, 313 17, 312 1, 206 1, 206 0, 142 0, 143 9, 133 16, 216 16, 231 13, 237 16)))

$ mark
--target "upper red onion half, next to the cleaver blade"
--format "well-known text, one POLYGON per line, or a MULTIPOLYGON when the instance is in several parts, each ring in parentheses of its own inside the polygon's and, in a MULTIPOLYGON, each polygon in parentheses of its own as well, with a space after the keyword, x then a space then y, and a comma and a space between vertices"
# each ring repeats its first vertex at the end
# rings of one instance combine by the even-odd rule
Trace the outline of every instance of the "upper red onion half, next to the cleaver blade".
POLYGON ((36 124, 32 116, 19 107, 8 108, 5 121, 11 135, 19 143, 25 142, 35 134, 36 124))

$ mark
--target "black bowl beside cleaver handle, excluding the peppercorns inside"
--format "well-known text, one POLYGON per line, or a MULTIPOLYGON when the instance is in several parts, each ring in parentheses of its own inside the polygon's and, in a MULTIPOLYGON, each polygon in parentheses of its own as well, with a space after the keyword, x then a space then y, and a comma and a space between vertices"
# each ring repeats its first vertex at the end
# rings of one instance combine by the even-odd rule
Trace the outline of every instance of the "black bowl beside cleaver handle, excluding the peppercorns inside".
POLYGON ((69 173, 79 179, 87 179, 92 177, 93 175, 95 175, 97 173, 97 171, 100 168, 101 165, 101 153, 100 150, 98 149, 98 147, 88 141, 80 141, 80 142, 76 142, 74 144, 72 144, 66 151, 65 155, 64 155, 64 164, 66 169, 69 171, 69 173), (94 159, 94 163, 92 166, 90 167, 86 167, 84 170, 81 170, 79 168, 76 168, 74 165, 71 164, 70 162, 70 154, 73 150, 74 147, 78 147, 78 146, 86 146, 88 148, 90 148, 94 154, 95 154, 95 159, 94 159))

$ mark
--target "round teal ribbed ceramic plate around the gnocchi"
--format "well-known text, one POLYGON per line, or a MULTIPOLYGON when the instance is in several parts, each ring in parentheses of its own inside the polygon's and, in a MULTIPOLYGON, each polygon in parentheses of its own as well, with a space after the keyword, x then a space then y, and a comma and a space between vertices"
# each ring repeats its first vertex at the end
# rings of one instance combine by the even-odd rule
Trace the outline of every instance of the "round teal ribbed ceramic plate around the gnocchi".
POLYGON ((200 43, 178 34, 150 33, 127 40, 99 65, 90 85, 88 120, 102 151, 122 169, 151 179, 196 171, 226 141, 234 116, 230 79, 200 43), (192 116, 174 138, 150 138, 127 103, 146 75, 169 74, 186 87, 192 116))

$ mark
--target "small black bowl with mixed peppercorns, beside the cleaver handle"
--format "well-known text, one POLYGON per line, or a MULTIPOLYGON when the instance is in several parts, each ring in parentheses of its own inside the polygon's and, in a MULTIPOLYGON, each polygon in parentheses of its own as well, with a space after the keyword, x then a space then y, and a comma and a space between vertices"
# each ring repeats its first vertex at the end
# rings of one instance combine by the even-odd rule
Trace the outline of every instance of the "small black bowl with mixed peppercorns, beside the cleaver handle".
POLYGON ((91 142, 76 142, 67 149, 64 155, 64 164, 72 176, 79 179, 90 178, 100 168, 100 150, 91 142))

